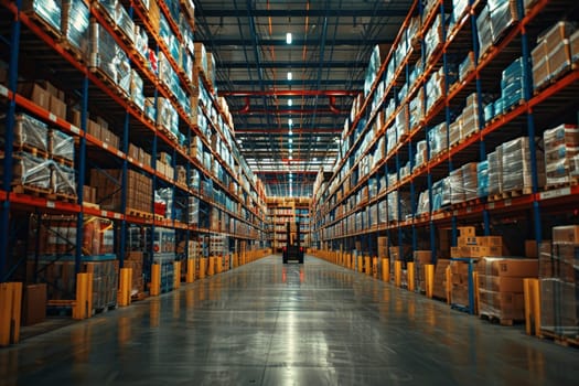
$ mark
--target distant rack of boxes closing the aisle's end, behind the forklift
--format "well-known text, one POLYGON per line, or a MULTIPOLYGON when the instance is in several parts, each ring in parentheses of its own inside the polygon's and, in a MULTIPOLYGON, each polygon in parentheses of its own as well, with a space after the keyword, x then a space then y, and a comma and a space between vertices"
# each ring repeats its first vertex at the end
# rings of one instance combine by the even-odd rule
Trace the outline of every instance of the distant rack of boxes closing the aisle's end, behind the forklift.
POLYGON ((300 223, 303 246, 310 238, 310 199, 308 197, 268 197, 267 201, 268 240, 274 251, 281 251, 287 244, 286 224, 300 223))

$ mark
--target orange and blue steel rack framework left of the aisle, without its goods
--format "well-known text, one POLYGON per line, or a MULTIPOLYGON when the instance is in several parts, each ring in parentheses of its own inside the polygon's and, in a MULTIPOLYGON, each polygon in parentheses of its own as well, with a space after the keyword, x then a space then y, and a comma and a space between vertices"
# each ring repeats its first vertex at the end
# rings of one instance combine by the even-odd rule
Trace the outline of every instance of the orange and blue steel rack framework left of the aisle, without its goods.
MULTIPOLYGON (((30 2, 28 2, 30 4, 30 2)), ((64 2, 63 2, 64 3, 64 2)), ((172 259, 187 259, 208 257, 212 255, 210 245, 212 236, 226 239, 225 254, 245 253, 265 247, 265 190, 261 182, 253 174, 247 163, 242 158, 230 126, 230 116, 226 111, 223 99, 216 97, 212 79, 207 71, 199 71, 195 66, 193 73, 184 71, 172 55, 171 47, 160 35, 158 29, 148 14, 143 2, 121 1, 130 21, 139 25, 148 37, 148 46, 156 55, 163 54, 171 66, 171 71, 179 78, 179 86, 190 98, 201 98, 199 90, 206 90, 206 98, 200 104, 197 110, 187 112, 180 104, 179 98, 159 78, 144 57, 135 45, 135 40, 128 37, 120 25, 107 14, 106 7, 99 1, 76 0, 72 3, 85 6, 88 9, 90 22, 109 34, 130 63, 131 71, 136 72, 143 81, 143 93, 150 97, 154 105, 161 97, 165 98, 179 115, 179 131, 171 132, 159 124, 157 112, 149 117, 131 95, 124 90, 119 84, 107 76, 103 69, 89 66, 90 58, 84 52, 75 50, 60 30, 40 18, 34 11, 23 10, 22 1, 0 1, 0 34, 3 40, 2 61, 8 63, 7 79, 0 82, 0 103, 6 115, 6 141, 2 151, 3 179, 0 190, 0 281, 21 279, 25 277, 25 259, 31 248, 22 255, 22 240, 28 240, 29 213, 36 216, 43 215, 71 215, 75 222, 74 248, 67 251, 68 259, 75 262, 75 271, 81 270, 81 265, 87 259, 83 253, 83 223, 87 217, 98 217, 114 224, 115 240, 114 251, 120 267, 124 267, 126 255, 131 248, 139 248, 136 244, 129 245, 128 228, 140 227, 148 235, 141 244, 146 261, 143 275, 150 279, 150 265, 156 256, 154 245, 158 229, 174 232, 170 254, 172 259), (32 95, 21 93, 19 82, 22 79, 46 79, 64 92, 68 108, 78 109, 77 122, 68 116, 60 116, 50 107, 41 106, 34 101, 32 95), (197 83, 199 81, 199 83, 197 83), (3 83, 3 84, 2 84, 3 83), (74 173, 76 178, 76 195, 51 195, 43 191, 26 190, 24 193, 14 191, 12 181, 13 168, 13 140, 12 128, 17 114, 26 114, 51 127, 53 130, 74 138, 75 158, 74 173), (120 140, 111 144, 106 139, 99 139, 89 132, 88 118, 93 115, 106 117, 112 124, 110 132, 120 140), (199 125, 196 116, 204 117, 207 127, 199 125), (203 130, 205 129, 205 130, 203 130), (176 137, 176 138, 175 138, 176 137), (187 144, 192 139, 201 141, 202 156, 214 162, 211 167, 194 157, 187 144), (180 140, 181 139, 181 140, 180 140), (222 151, 216 150, 215 143, 221 143, 222 151), (147 149, 150 153, 150 163, 137 159, 131 153, 131 147, 147 149), (225 154, 232 154, 226 160, 225 154), (158 158, 163 156, 164 162, 158 158), (116 180, 120 205, 115 208, 104 210, 98 204, 88 203, 84 196, 84 186, 89 183, 90 171, 120 170, 120 179, 116 180), (185 171, 179 175, 178 169, 185 171), (217 170, 219 174, 215 172, 217 170), (128 172, 144 176, 152 183, 149 202, 150 208, 137 211, 128 206, 130 189, 141 186, 128 185, 128 172), (192 175, 197 173, 203 183, 193 184, 192 175), (165 189, 169 194, 169 211, 156 211, 154 191, 165 189), (200 212, 205 212, 204 218, 193 222, 186 213, 192 201, 197 201, 200 212), (180 212, 185 214, 178 215, 180 212), (218 221, 211 221, 210 213, 216 214, 218 221), (200 240, 202 253, 189 256, 192 240, 200 240), (17 249, 14 249, 17 248, 17 249), (20 249, 19 249, 20 248, 20 249), (12 251, 17 250, 17 254, 12 251)), ((174 11, 180 9, 179 1, 148 1, 149 7, 159 6, 159 12, 168 21, 169 28, 176 36, 178 46, 185 46, 184 36, 174 20, 174 11), (172 6, 171 10, 169 4, 172 6), (175 8, 176 7, 176 8, 175 8)), ((42 6, 42 4, 41 4, 42 6)), ((189 20, 191 28, 193 20, 189 20)), ((192 43, 192 42, 190 42, 192 43)), ((184 50, 184 49, 183 49, 184 50)), ((193 53, 191 52, 191 57, 193 53)), ((2 68, 0 68, 2 69, 2 68)), ((47 96, 49 97, 49 96, 47 96)), ((51 96, 52 97, 52 96, 51 96)), ((196 101, 199 103, 199 101, 196 101)), ((195 106, 196 106, 195 103, 195 106)), ((110 175, 108 175, 110 179, 110 175)), ((139 230, 140 232, 140 230, 139 230)), ((161 237, 161 236, 159 236, 161 237)), ((33 250, 34 248, 32 248, 33 250)), ((37 248, 35 254, 37 262, 37 248)), ((57 257, 56 259, 60 259, 57 257)), ((227 259, 229 260, 229 259, 227 259)), ((176 275, 176 274, 175 274, 176 275)), ((35 278, 35 276, 34 276, 35 278)))

